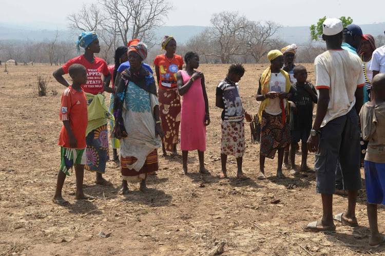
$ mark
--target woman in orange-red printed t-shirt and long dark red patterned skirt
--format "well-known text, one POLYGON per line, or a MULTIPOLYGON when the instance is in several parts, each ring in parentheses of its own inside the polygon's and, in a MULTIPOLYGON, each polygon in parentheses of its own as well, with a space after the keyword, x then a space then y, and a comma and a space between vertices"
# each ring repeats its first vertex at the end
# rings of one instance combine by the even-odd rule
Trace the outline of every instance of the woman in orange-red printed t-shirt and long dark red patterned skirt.
POLYGON ((181 122, 181 97, 177 90, 177 72, 182 70, 183 58, 177 54, 177 41, 173 36, 164 36, 162 50, 165 54, 158 55, 153 63, 158 80, 158 98, 160 117, 164 138, 162 141, 163 155, 166 151, 177 153, 179 125, 181 122))

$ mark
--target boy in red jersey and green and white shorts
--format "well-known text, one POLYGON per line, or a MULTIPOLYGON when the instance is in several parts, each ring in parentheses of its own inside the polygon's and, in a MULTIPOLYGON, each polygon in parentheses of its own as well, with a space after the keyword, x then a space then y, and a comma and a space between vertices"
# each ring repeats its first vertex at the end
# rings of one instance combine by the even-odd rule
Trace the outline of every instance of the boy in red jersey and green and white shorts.
POLYGON ((52 201, 67 205, 62 197, 62 188, 66 176, 72 175, 75 165, 76 199, 94 199, 83 193, 84 164, 86 163, 86 129, 88 124, 87 100, 81 86, 87 82, 87 71, 83 65, 73 64, 69 67, 72 85, 62 95, 60 120, 63 121, 59 137, 61 146, 61 165, 57 174, 56 192, 52 201), (71 169, 71 175, 68 170, 71 169))

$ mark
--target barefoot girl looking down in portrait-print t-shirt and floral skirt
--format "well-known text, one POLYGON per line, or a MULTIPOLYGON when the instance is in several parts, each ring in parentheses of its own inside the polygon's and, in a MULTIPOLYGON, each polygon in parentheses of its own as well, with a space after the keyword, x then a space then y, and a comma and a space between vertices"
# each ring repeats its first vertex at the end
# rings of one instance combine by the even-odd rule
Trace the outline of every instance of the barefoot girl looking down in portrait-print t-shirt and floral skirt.
POLYGON ((245 130, 243 119, 251 121, 252 117, 244 111, 241 97, 239 96, 238 82, 245 73, 245 69, 239 63, 231 65, 226 77, 219 82, 216 93, 216 106, 223 109, 222 112, 222 137, 221 137, 221 162, 222 173, 220 178, 227 178, 227 155, 237 159, 237 178, 247 179, 242 172, 242 157, 245 151, 245 130), (230 111, 230 106, 235 111, 230 111))

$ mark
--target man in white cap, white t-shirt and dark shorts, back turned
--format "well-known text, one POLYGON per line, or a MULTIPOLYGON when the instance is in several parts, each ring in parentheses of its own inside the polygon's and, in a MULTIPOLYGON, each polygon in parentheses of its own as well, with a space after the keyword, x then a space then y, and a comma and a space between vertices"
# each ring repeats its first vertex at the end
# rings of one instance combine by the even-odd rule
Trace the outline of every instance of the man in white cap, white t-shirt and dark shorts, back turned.
POLYGON ((360 174, 360 131, 358 113, 363 103, 365 83, 361 60, 341 48, 342 22, 325 19, 322 38, 328 51, 314 61, 317 114, 307 140, 310 152, 316 152, 316 192, 321 194, 321 221, 307 225, 311 231, 333 231, 333 194, 335 194, 336 164, 340 162, 343 183, 348 190, 348 210, 334 219, 349 226, 358 226, 355 216, 357 192, 362 188, 360 174))

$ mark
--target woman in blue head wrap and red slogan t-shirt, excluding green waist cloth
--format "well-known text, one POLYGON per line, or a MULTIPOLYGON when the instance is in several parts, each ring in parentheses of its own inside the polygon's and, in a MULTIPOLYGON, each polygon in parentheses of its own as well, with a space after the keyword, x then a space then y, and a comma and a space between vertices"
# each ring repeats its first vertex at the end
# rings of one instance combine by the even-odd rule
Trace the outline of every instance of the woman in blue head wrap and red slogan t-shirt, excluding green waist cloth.
MULTIPOLYGON (((79 36, 78 41, 76 41, 76 47, 78 48, 78 54, 80 53, 80 47, 84 48, 84 54, 68 60, 63 67, 53 72, 53 77, 63 84, 63 86, 68 87, 70 83, 63 75, 68 74, 68 69, 72 64, 78 63, 83 65, 87 70, 87 83, 82 85, 82 89, 86 95, 87 93, 97 95, 104 91, 113 93, 114 90, 109 87, 111 74, 106 61, 94 56, 95 53, 100 52, 98 34, 93 31, 83 32, 79 36)), ((91 102, 92 100, 88 100, 88 105, 91 102)), ((87 163, 85 168, 96 172, 95 183, 106 184, 107 181, 102 177, 102 174, 105 172, 106 162, 109 159, 107 119, 105 119, 105 124, 88 133, 86 142, 87 163)))

